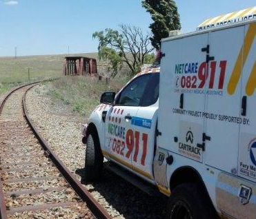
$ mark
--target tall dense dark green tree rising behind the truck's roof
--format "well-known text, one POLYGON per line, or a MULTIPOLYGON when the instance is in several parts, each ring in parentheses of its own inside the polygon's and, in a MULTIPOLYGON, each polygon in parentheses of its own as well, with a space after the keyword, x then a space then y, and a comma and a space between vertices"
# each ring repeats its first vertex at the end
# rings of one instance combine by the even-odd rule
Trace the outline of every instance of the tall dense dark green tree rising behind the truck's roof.
POLYGON ((170 30, 181 29, 178 8, 173 0, 144 0, 141 4, 154 21, 149 26, 153 34, 150 40, 152 46, 159 50, 161 39, 168 37, 170 30))

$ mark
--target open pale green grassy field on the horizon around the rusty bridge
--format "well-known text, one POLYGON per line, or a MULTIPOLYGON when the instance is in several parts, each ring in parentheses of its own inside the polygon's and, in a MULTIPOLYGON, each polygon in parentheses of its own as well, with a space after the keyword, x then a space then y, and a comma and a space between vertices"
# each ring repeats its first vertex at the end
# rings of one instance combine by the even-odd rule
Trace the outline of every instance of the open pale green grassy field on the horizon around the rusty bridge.
MULTIPOLYGON (((97 53, 76 54, 97 59, 97 53)), ((50 56, 19 56, 0 57, 0 94, 6 92, 15 85, 28 83, 28 69, 30 81, 42 81, 54 79, 62 75, 63 60, 66 55, 50 56)))

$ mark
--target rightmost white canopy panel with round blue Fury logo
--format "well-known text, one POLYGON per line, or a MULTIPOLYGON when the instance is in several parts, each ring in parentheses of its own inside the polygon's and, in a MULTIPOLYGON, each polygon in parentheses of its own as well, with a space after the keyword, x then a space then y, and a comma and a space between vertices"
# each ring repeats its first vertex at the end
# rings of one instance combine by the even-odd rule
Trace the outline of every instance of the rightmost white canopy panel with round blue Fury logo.
POLYGON ((238 174, 256 182, 256 23, 245 27, 238 174))

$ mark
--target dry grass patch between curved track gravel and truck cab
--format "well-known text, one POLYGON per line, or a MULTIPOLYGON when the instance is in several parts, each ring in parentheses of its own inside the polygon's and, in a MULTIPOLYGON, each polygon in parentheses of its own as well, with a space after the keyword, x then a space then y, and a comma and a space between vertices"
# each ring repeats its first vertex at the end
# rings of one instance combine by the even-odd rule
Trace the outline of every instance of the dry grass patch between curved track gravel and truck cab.
POLYGON ((111 79, 110 84, 90 76, 63 76, 52 81, 48 94, 53 99, 61 100, 72 107, 73 112, 90 116, 92 110, 99 105, 99 98, 105 91, 117 92, 128 81, 126 78, 111 79))

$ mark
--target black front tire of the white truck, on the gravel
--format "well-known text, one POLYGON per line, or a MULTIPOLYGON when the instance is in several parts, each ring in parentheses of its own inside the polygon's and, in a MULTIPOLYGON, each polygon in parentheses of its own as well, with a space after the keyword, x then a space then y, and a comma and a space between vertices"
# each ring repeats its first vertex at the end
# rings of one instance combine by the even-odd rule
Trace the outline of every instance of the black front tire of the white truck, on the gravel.
POLYGON ((86 144, 85 178, 86 182, 100 180, 103 169, 104 157, 101 153, 99 137, 95 133, 90 133, 86 144))

